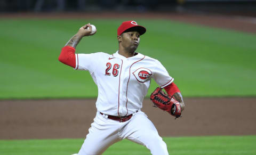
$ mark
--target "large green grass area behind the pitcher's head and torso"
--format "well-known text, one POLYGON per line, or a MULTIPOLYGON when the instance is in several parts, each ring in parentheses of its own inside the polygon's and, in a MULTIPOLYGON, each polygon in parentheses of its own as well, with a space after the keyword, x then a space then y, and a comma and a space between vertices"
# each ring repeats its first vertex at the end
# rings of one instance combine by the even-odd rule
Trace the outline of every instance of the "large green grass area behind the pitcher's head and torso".
MULTIPOLYGON (((0 99, 96 97, 89 72, 58 61, 61 48, 79 27, 97 26, 78 53, 114 53, 116 29, 128 19, 0 19, 0 99)), ((137 52, 161 61, 183 96, 255 96, 256 35, 137 19, 147 28, 137 52)), ((149 92, 153 91, 153 82, 149 92)))

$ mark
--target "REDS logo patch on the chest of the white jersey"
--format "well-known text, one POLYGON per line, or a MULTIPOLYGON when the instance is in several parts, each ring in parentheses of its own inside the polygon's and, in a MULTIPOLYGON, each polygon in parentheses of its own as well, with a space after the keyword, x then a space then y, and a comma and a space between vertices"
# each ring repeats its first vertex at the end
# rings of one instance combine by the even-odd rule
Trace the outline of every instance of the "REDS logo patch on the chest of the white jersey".
POLYGON ((152 72, 147 68, 139 68, 132 73, 140 83, 145 83, 152 75, 152 72))

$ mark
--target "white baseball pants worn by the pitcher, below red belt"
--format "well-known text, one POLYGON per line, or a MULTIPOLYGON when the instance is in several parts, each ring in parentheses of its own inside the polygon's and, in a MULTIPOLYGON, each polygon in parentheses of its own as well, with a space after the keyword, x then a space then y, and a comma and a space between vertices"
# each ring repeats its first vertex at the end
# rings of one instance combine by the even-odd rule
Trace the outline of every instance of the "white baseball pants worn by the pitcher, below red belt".
POLYGON ((102 154, 110 145, 124 138, 146 146, 153 155, 168 154, 165 142, 144 112, 133 113, 130 120, 119 123, 98 111, 78 155, 102 154))

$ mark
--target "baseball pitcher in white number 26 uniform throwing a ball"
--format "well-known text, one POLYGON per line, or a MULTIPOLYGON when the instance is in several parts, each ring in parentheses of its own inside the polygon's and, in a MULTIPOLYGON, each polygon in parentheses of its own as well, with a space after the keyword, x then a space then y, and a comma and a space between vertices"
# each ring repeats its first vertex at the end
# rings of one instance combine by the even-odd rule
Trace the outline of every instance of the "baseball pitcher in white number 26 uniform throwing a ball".
POLYGON ((156 107, 178 118, 185 104, 174 79, 161 62, 135 52, 146 28, 135 21, 123 22, 117 29, 118 51, 111 55, 75 53, 79 41, 95 32, 90 23, 81 27, 59 56, 60 62, 74 69, 89 71, 98 86, 97 113, 78 154, 102 154, 124 138, 146 146, 151 154, 168 154, 154 124, 140 110, 150 80, 154 79, 159 85, 150 96, 156 107))

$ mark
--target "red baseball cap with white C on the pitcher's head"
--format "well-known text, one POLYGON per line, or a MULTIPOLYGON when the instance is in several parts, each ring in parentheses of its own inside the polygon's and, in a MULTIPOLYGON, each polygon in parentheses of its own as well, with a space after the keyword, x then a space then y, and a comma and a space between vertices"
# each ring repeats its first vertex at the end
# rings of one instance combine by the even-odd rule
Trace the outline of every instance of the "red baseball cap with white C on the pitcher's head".
POLYGON ((134 31, 138 31, 140 33, 140 35, 145 34, 146 32, 146 28, 139 26, 137 22, 135 22, 134 20, 130 20, 130 21, 124 21, 121 26, 118 27, 117 29, 117 35, 121 35, 123 32, 125 31, 129 31, 129 30, 134 30, 134 31))

